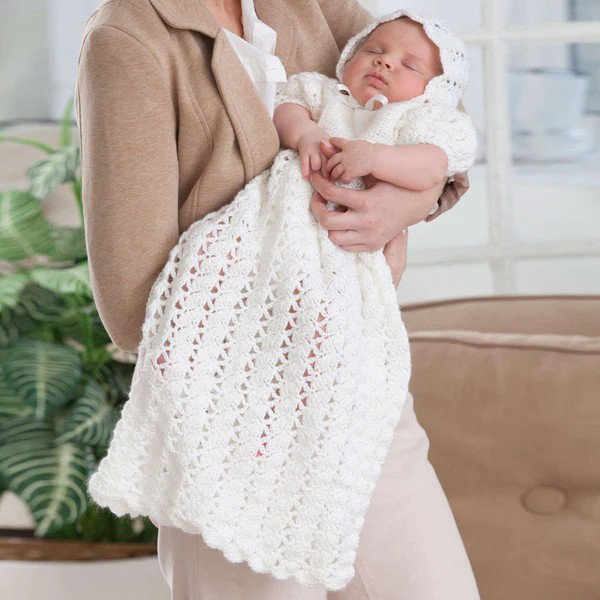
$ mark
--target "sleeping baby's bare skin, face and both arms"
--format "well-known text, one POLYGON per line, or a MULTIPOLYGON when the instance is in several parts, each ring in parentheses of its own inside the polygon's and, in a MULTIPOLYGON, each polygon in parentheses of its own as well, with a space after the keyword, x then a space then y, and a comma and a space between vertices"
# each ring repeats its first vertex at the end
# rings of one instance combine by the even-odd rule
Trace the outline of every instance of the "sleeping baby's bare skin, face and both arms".
MULTIPOLYGON (((440 76, 443 69, 439 49, 423 26, 401 16, 370 33, 342 72, 343 83, 352 97, 365 105, 378 96, 384 96, 388 102, 421 96, 429 81, 440 76)), ((290 79, 293 86, 294 77, 290 79)), ((323 84, 328 85, 329 81, 323 84)), ((339 151, 327 159, 320 144, 328 135, 313 121, 308 108, 301 102, 292 102, 291 95, 284 93, 280 97, 274 122, 282 145, 299 151, 304 177, 308 178, 310 171, 320 170, 323 176, 350 183, 356 177, 372 175, 413 190, 430 189, 442 181, 448 157, 433 144, 389 146, 334 138, 330 141, 339 151)))

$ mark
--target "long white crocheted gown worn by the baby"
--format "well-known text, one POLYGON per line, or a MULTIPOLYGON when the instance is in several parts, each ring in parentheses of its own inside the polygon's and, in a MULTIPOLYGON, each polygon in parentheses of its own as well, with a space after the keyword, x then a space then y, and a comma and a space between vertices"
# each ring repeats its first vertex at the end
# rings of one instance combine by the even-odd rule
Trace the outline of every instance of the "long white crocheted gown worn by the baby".
MULTIPOLYGON (((433 132, 447 107, 368 111, 337 83, 298 74, 278 102, 306 106, 332 136, 436 139, 453 168, 469 166, 454 133, 433 132)), ((312 191, 285 150, 182 234, 150 292, 130 397, 89 491, 117 515, 201 533, 257 572, 338 590, 354 576, 410 353, 383 253, 335 246, 312 191)))

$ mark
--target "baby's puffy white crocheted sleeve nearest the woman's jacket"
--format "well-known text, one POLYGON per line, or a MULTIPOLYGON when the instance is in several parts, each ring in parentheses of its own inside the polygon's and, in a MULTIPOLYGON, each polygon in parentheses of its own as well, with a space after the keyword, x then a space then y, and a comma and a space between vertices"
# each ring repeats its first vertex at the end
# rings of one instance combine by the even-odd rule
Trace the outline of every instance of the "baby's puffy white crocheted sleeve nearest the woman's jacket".
POLYGON ((318 121, 327 101, 338 93, 338 83, 337 79, 321 73, 296 73, 288 78, 285 88, 278 92, 275 108, 286 102, 299 104, 310 112, 313 121, 318 121))

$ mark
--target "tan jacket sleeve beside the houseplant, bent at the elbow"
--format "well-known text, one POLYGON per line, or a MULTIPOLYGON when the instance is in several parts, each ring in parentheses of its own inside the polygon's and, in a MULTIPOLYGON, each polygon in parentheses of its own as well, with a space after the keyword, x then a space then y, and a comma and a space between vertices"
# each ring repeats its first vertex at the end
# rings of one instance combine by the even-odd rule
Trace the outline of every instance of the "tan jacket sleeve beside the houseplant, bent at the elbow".
POLYGON ((83 41, 75 99, 92 291, 114 344, 135 352, 179 239, 173 101, 145 46, 105 25, 83 41))

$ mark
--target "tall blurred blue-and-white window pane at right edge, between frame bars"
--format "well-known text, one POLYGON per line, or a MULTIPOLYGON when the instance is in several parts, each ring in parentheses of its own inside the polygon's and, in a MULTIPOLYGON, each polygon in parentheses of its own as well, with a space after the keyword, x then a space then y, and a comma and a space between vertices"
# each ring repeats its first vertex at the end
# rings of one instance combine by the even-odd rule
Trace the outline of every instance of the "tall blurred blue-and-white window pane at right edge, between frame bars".
POLYGON ((519 241, 598 239, 600 60, 594 57, 600 59, 600 44, 510 47, 512 201, 519 241), (577 63, 579 53, 588 57, 585 69, 577 63))

